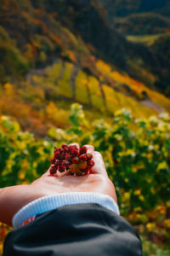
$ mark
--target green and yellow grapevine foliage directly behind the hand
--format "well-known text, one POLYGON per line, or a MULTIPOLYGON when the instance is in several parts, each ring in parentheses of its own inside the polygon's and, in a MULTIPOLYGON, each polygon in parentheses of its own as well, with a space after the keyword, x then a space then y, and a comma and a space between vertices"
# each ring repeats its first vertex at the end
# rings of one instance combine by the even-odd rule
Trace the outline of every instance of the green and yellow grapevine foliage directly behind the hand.
MULTIPOLYGON (((138 230, 144 255, 169 255, 170 239, 170 117, 135 119, 117 110, 111 122, 89 122, 78 103, 71 105, 71 125, 50 128, 43 140, 21 131, 17 121, 0 117, 0 187, 31 183, 46 172, 54 145, 93 144, 101 152, 116 186, 123 218, 138 230)), ((1 224, 0 250, 8 227, 1 224)))

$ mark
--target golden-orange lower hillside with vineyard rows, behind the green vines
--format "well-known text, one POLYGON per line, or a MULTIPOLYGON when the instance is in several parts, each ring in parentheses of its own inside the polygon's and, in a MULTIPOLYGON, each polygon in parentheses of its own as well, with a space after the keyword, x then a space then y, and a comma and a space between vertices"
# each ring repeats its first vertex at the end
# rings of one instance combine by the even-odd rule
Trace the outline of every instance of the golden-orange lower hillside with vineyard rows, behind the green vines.
POLYGON ((43 138, 51 126, 67 127, 71 102, 82 104, 90 121, 101 115, 110 119, 120 108, 130 109, 134 118, 149 118, 170 108, 166 96, 127 73, 111 70, 101 60, 94 66, 98 75, 56 58, 53 65, 32 69, 16 84, 0 85, 0 114, 14 117, 23 130, 43 138))

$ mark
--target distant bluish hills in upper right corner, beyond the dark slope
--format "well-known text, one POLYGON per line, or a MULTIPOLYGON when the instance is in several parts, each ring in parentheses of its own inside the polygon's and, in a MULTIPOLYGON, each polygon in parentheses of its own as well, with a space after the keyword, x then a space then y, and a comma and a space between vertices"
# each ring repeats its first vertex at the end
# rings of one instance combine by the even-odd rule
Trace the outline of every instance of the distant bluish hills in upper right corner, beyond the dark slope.
MULTIPOLYGON (((164 50, 156 51, 150 47, 157 38, 160 38, 159 42, 161 43, 161 35, 167 34, 170 30, 169 1, 100 0, 99 3, 105 9, 105 18, 110 26, 126 36, 129 42, 139 44, 138 50, 142 52, 142 55, 145 55, 144 50, 141 49, 143 45, 153 55, 161 56, 168 63, 167 66, 169 65, 169 58, 164 50)), ((158 69, 160 70, 161 66, 158 69)), ((161 76, 155 85, 161 92, 168 93, 168 75, 161 76)))

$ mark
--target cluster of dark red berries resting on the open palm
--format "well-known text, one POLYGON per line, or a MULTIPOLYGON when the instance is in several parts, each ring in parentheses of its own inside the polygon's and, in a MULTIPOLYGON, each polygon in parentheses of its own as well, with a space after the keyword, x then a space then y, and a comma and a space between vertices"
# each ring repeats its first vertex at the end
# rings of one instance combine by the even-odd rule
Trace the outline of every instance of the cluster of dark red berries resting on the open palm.
POLYGON ((50 160, 52 166, 49 169, 51 175, 57 171, 67 172, 71 175, 82 176, 91 172, 94 166, 93 155, 88 153, 88 148, 76 145, 62 144, 61 148, 54 148, 54 158, 50 160))

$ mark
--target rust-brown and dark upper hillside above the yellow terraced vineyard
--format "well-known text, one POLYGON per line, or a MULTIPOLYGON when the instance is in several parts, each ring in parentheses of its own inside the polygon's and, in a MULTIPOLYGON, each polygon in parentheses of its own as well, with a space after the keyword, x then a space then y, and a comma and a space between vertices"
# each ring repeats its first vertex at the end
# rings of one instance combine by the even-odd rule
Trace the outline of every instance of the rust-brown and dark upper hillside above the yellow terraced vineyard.
POLYGON ((75 57, 71 61, 78 61, 91 73, 94 73, 94 67, 89 57, 94 55, 133 78, 164 90, 169 81, 167 59, 159 53, 153 54, 144 45, 129 43, 108 25, 104 14, 94 1, 81 0, 76 3, 54 1, 53 4, 44 0, 34 5, 28 0, 22 3, 3 0, 0 7, 1 25, 15 40, 29 67, 43 66, 52 61, 54 55, 69 58, 71 56, 65 52, 71 50, 75 57), (141 76, 136 67, 144 69, 145 75, 141 76), (149 73, 155 76, 154 83, 149 73))

